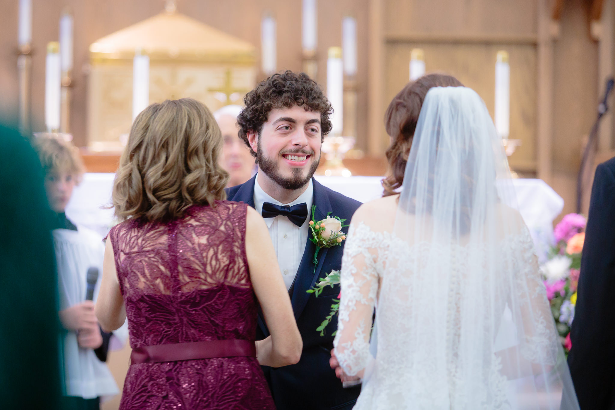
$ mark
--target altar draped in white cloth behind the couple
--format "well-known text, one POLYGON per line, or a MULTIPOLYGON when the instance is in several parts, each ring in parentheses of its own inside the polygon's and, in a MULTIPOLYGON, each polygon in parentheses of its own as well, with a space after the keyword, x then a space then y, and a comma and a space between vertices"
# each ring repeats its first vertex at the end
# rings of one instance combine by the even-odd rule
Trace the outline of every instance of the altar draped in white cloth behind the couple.
MULTIPOLYGON (((66 215, 76 224, 89 227, 106 235, 113 223, 111 204, 114 173, 85 173, 83 181, 75 187, 66 207, 66 215)), ((315 179, 333 191, 368 202, 382 195, 381 176, 323 176, 315 179)), ((542 179, 513 179, 519 211, 530 228, 539 256, 549 250, 553 235, 553 221, 564 207, 561 199, 542 179)))

